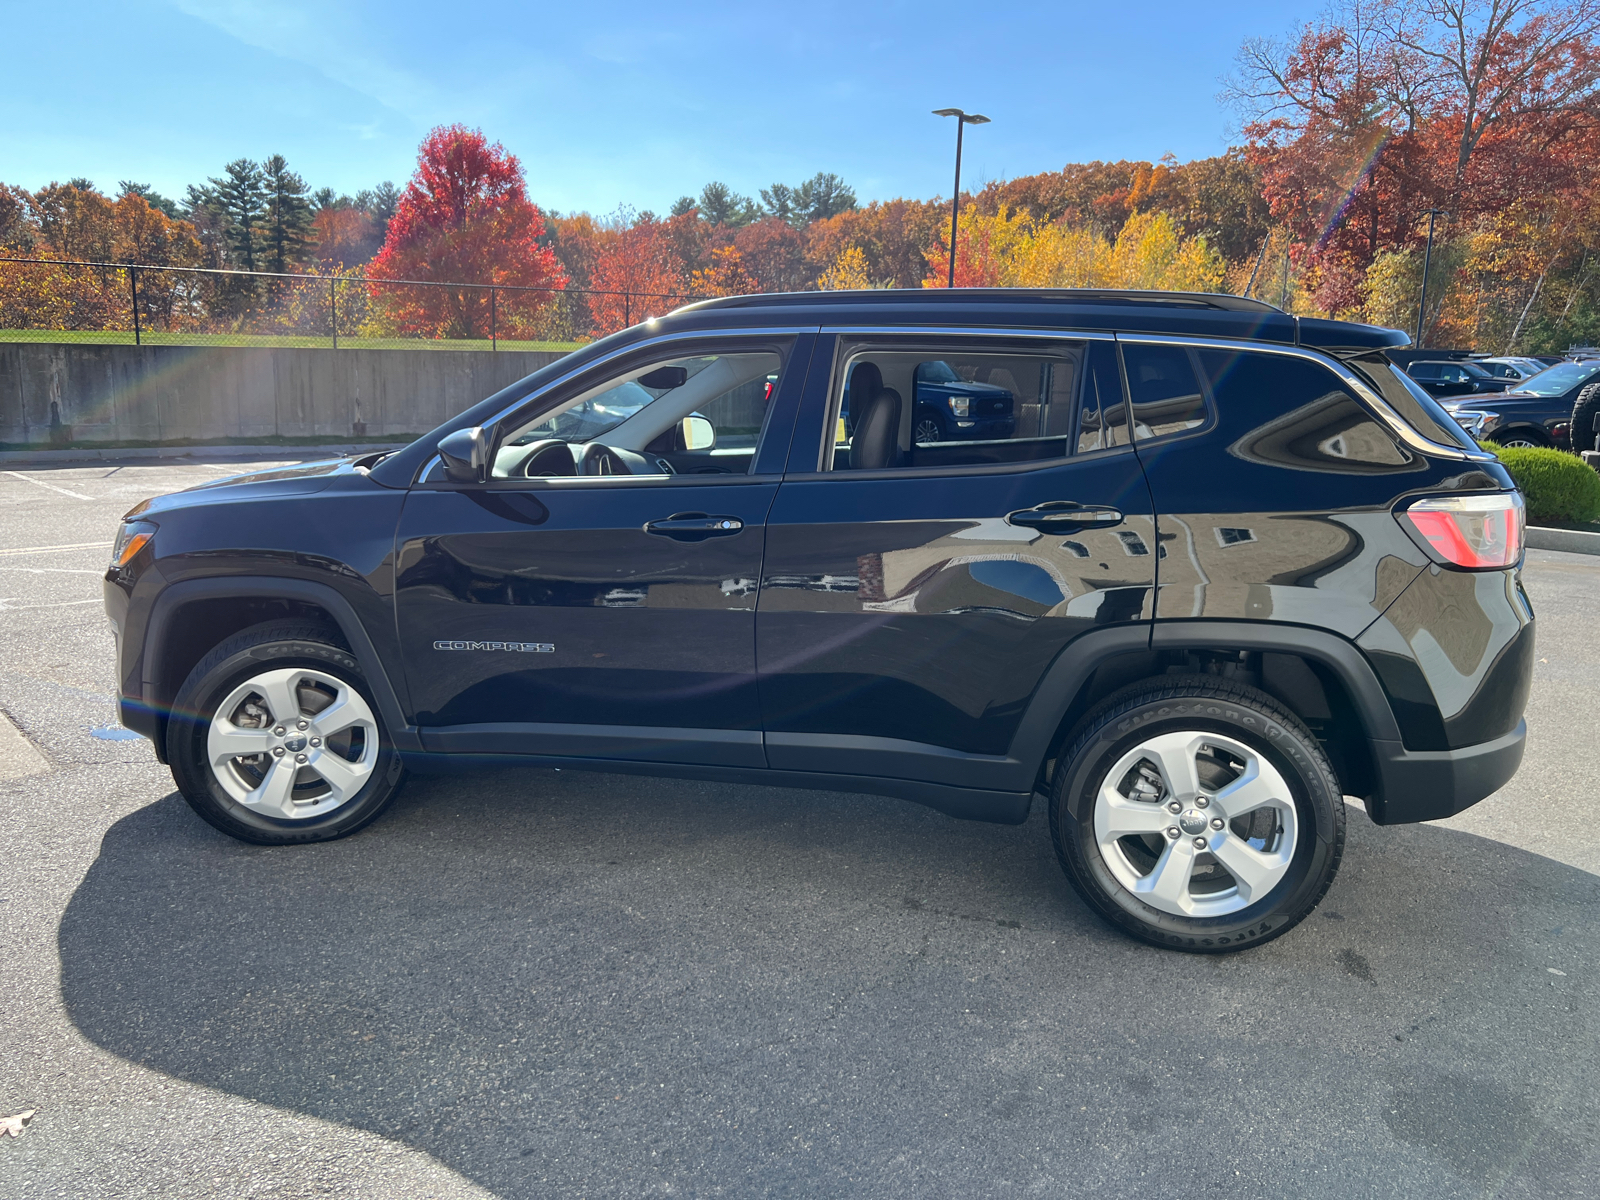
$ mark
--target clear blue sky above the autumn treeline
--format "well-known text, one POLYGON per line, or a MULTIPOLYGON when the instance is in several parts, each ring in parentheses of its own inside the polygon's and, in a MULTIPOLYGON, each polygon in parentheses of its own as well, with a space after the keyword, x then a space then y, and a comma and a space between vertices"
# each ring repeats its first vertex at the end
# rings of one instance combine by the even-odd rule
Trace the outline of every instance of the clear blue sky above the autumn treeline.
POLYGON ((349 3, 6 0, 0 181, 136 179, 181 197, 240 155, 312 187, 403 184, 434 125, 480 126, 562 211, 664 211, 837 171, 862 200, 1237 141, 1243 38, 1315 14, 1227 3, 349 3))

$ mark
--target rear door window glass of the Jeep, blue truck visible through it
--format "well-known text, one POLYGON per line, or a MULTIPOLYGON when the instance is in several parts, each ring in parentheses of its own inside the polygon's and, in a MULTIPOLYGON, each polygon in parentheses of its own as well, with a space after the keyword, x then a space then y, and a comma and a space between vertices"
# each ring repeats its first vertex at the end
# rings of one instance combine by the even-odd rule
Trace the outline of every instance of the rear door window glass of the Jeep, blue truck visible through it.
MULTIPOLYGON (((1078 342, 1035 354, 958 342, 845 347, 824 467, 954 467, 1072 454, 1082 442, 1074 432, 1080 400, 1098 395, 1085 382, 1085 352, 1078 342)), ((1093 405, 1093 437, 1126 443, 1115 362, 1098 387, 1114 389, 1117 403, 1085 400, 1093 405), (1104 430, 1107 419, 1115 435, 1104 430)))

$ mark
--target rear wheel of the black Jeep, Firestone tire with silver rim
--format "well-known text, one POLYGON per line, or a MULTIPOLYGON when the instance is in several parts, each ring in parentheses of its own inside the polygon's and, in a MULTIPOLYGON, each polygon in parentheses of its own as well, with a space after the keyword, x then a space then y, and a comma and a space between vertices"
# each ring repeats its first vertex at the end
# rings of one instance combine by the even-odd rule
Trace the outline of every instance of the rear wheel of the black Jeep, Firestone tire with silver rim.
POLYGON ((1224 954, 1317 907, 1344 854, 1344 797, 1317 739, 1264 691, 1168 677, 1078 723, 1051 779, 1050 832, 1072 886, 1110 925, 1224 954))

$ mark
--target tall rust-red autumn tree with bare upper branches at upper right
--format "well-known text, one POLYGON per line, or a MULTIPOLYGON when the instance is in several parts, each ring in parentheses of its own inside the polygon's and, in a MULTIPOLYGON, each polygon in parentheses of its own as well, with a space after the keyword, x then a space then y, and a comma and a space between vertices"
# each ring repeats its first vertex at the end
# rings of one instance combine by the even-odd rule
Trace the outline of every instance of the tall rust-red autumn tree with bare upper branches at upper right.
POLYGON ((1570 224, 1554 208, 1589 187, 1597 35, 1600 0, 1342 0, 1290 43, 1246 42, 1229 90, 1318 307, 1358 309, 1429 208, 1445 238, 1530 202, 1530 227, 1570 224))

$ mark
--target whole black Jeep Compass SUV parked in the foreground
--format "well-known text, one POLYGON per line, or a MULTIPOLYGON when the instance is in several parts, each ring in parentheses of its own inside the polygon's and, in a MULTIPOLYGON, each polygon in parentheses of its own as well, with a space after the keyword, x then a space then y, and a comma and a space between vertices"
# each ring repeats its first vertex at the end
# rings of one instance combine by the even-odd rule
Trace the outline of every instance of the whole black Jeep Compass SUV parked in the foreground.
POLYGON ((696 304, 406 450, 130 512, 122 718, 259 843, 360 829, 406 765, 1037 795, 1109 922, 1258 944, 1346 795, 1429 821, 1522 758, 1522 498, 1403 342, 1229 296, 696 304), (917 442, 933 363, 1008 435, 917 442))

